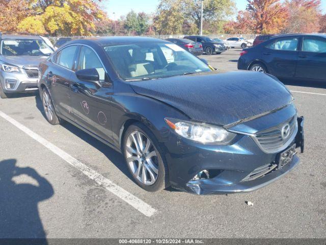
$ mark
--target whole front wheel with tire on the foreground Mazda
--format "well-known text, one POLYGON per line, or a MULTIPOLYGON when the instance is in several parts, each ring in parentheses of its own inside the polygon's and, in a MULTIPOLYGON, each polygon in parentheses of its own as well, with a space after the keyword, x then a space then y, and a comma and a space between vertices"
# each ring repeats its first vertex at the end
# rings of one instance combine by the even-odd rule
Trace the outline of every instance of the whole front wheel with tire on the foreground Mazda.
POLYGON ((145 126, 131 125, 123 137, 122 152, 133 180, 147 191, 169 186, 168 167, 158 142, 145 126))

